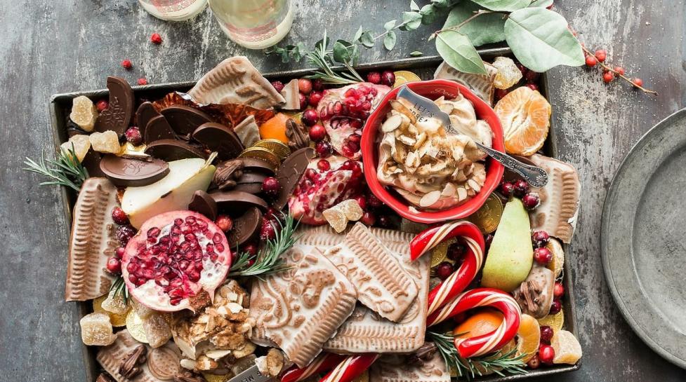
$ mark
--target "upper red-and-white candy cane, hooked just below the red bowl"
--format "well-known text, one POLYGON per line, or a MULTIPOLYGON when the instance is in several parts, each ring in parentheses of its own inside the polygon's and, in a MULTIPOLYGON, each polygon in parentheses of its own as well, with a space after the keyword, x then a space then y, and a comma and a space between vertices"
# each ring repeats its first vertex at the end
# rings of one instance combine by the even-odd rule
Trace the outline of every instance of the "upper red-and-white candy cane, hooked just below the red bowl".
POLYGON ((419 233, 410 242, 410 257, 418 259, 423 254, 433 250, 444 240, 460 236, 467 244, 467 254, 460 268, 449 278, 429 292, 427 314, 437 311, 447 301, 460 294, 481 269, 484 262, 484 236, 477 226, 468 221, 454 221, 419 233))

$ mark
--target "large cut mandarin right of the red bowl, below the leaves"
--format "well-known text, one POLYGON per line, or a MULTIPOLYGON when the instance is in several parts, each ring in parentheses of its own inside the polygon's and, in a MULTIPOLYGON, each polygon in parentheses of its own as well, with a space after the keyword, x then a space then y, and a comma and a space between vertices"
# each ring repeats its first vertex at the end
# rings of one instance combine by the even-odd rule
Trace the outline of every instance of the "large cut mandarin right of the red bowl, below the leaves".
POLYGON ((530 156, 543 147, 552 108, 538 90, 516 88, 498 101, 494 110, 503 125, 508 154, 530 156))

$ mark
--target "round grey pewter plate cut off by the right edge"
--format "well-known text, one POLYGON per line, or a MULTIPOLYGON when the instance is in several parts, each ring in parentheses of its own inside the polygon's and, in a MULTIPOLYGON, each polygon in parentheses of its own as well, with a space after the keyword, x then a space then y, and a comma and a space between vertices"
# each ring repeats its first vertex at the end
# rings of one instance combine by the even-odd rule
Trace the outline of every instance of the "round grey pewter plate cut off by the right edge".
POLYGON ((605 278, 634 332, 686 368, 686 109, 631 149, 602 211, 605 278))

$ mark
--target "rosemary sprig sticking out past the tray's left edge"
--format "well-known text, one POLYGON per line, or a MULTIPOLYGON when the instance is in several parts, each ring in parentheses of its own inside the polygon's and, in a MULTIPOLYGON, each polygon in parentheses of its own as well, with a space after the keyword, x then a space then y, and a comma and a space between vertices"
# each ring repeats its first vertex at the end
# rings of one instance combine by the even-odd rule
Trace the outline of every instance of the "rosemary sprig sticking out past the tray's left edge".
POLYGON ((41 186, 48 184, 58 184, 60 186, 67 186, 74 191, 79 192, 81 184, 88 178, 88 170, 79 162, 76 151, 74 151, 74 144, 72 148, 65 150, 60 149, 57 159, 46 159, 44 154, 41 154, 41 159, 36 163, 31 158, 26 158, 24 164, 28 167, 22 170, 35 172, 44 175, 53 180, 41 182, 41 186))

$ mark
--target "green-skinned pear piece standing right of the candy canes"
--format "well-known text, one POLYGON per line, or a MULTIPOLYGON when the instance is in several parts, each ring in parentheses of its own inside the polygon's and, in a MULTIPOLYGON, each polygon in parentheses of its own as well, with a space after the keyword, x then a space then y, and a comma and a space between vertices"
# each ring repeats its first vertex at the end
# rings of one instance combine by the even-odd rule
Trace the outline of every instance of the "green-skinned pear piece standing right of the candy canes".
POLYGON ((512 292, 526 280, 533 262, 529 214, 522 200, 513 198, 503 210, 486 257, 481 285, 512 292))

